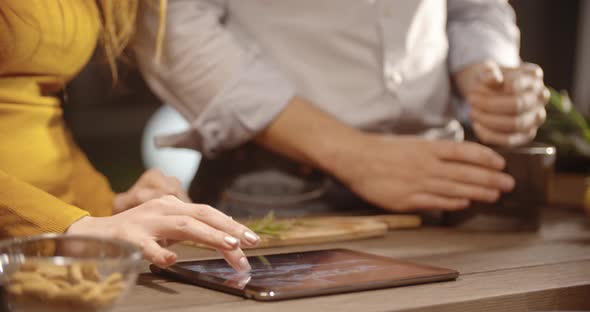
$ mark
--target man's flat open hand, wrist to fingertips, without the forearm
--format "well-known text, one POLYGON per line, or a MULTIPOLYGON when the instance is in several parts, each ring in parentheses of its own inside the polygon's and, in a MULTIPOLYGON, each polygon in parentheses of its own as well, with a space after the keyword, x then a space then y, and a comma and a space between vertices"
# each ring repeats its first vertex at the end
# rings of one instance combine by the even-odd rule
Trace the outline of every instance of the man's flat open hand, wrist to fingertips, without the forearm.
POLYGON ((387 210, 458 210, 495 202, 514 188, 504 159, 475 143, 364 135, 333 159, 330 172, 365 200, 387 210))

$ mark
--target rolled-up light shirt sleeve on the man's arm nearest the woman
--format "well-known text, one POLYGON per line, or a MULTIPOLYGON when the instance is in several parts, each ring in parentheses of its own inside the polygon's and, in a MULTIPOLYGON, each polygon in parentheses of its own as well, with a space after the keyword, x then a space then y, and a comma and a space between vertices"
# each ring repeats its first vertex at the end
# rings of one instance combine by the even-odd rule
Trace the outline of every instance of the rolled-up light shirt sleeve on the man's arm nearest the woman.
POLYGON ((134 51, 150 88, 189 122, 160 137, 159 146, 193 148, 205 156, 251 140, 294 96, 293 84, 255 42, 238 41, 223 23, 223 1, 171 0, 161 59, 159 17, 142 9, 134 51))

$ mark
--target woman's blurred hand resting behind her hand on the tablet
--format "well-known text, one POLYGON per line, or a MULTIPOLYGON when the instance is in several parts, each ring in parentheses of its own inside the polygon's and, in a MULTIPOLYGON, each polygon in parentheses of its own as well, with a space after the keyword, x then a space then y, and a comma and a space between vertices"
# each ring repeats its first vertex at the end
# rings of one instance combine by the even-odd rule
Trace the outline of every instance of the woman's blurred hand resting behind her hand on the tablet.
POLYGON ((115 195, 113 214, 121 213, 164 195, 174 195, 184 202, 191 202, 176 177, 165 176, 160 170, 150 169, 127 192, 115 195))

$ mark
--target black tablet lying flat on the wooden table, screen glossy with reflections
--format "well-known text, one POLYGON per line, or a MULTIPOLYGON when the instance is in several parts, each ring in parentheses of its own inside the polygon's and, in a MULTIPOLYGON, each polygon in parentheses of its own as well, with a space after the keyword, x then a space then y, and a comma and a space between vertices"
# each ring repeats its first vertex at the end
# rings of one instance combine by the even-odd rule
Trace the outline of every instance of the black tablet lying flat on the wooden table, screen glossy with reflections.
POLYGON ((236 273, 223 259, 179 262, 163 274, 195 285, 262 301, 454 280, 459 272, 348 249, 249 257, 236 273))

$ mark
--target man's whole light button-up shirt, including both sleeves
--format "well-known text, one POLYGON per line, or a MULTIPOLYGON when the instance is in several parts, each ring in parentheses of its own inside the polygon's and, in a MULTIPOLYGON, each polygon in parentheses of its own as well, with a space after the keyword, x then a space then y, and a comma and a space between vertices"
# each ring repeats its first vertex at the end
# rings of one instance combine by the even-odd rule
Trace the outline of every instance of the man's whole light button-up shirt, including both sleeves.
POLYGON ((367 131, 411 133, 454 114, 450 74, 519 62, 505 0, 171 0, 164 57, 144 10, 136 52, 191 130, 163 145, 214 156, 252 139, 298 95, 367 131))

